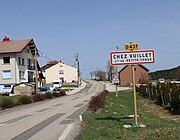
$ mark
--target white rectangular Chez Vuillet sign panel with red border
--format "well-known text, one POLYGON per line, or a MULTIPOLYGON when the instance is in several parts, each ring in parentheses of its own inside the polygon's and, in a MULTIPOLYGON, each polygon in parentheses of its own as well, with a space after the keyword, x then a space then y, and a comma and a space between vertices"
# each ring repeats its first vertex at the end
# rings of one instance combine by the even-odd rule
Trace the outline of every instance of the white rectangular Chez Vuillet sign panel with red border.
POLYGON ((138 50, 110 53, 110 64, 112 66, 148 63, 154 63, 154 50, 138 50))

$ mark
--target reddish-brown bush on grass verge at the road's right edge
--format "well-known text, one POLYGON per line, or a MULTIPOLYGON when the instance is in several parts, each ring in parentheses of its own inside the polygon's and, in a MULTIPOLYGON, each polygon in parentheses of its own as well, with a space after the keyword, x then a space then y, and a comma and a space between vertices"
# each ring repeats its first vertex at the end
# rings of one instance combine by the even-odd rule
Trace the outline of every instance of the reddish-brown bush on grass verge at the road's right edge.
POLYGON ((104 106, 106 96, 108 95, 109 91, 104 90, 97 96, 92 96, 89 102, 89 109, 93 112, 96 112, 98 108, 102 108, 104 106))

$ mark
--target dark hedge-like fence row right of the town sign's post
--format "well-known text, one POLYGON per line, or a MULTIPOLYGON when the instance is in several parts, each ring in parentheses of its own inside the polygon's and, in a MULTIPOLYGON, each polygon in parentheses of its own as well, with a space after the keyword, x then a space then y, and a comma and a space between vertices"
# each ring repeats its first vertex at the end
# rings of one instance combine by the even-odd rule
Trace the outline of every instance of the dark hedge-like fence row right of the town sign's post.
POLYGON ((180 114, 180 85, 173 83, 152 85, 150 83, 137 87, 137 92, 158 105, 168 108, 172 114, 180 114))

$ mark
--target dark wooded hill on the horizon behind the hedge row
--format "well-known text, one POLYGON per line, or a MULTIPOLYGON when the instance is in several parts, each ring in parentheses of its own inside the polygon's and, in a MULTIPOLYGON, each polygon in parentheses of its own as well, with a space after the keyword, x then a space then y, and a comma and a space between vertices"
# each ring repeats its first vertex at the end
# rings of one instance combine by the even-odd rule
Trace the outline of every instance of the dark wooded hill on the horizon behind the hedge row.
POLYGON ((159 78, 180 80, 180 66, 167 70, 160 70, 149 73, 152 80, 159 78))

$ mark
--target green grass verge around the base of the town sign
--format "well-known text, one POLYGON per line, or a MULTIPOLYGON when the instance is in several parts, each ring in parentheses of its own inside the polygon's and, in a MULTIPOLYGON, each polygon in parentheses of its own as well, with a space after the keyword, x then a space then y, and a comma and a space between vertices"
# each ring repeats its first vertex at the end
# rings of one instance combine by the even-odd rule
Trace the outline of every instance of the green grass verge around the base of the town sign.
POLYGON ((107 96, 104 108, 92 113, 83 114, 82 131, 77 140, 170 140, 180 139, 180 122, 162 119, 140 105, 144 99, 137 96, 138 123, 145 128, 123 128, 123 125, 133 124, 134 119, 128 115, 134 114, 133 95, 131 91, 120 92, 119 96, 111 93, 107 96))

